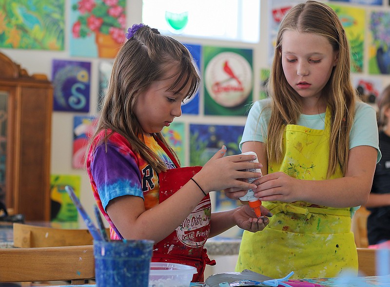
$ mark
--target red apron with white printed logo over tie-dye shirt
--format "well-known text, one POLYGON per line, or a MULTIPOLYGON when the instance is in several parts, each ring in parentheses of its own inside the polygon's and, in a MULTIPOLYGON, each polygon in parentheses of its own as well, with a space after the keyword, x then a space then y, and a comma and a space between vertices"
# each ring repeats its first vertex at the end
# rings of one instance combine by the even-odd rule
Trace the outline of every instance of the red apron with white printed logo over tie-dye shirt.
MULTIPOLYGON (((164 151, 173 159, 175 157, 158 141, 164 151)), ((185 185, 191 177, 202 169, 200 166, 170 169, 159 174, 159 203, 170 197, 185 185)), ((199 191, 200 192, 200 191, 199 191)), ((203 273, 208 265, 215 265, 203 248, 210 232, 211 200, 207 194, 190 215, 165 239, 156 243, 152 262, 170 262, 194 266, 197 273, 192 282, 203 282, 203 273)))

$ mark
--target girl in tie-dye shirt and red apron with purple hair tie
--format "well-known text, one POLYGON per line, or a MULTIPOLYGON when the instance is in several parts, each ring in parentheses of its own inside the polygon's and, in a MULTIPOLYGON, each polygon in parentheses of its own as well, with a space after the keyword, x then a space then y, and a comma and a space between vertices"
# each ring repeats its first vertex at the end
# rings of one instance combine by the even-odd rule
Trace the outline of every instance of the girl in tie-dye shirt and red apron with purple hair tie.
POLYGON ((203 248, 207 238, 234 225, 263 230, 269 222, 248 206, 211 213, 208 193, 256 188, 239 179, 257 177, 242 170, 261 165, 248 162, 253 155, 224 157, 223 146, 203 168, 179 168, 161 130, 198 89, 194 60, 184 45, 144 24, 126 38, 86 157, 92 190, 111 239, 153 240, 153 262, 194 266, 193 281, 203 281, 205 264, 213 264, 203 248))

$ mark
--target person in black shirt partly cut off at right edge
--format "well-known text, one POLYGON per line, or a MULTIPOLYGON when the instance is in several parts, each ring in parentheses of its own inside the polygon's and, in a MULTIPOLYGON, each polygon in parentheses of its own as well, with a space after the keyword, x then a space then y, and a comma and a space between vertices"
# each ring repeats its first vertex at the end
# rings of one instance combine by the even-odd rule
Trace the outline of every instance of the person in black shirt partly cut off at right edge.
POLYGON ((376 165, 371 193, 365 207, 369 248, 390 248, 390 85, 378 98, 379 147, 382 158, 376 165))

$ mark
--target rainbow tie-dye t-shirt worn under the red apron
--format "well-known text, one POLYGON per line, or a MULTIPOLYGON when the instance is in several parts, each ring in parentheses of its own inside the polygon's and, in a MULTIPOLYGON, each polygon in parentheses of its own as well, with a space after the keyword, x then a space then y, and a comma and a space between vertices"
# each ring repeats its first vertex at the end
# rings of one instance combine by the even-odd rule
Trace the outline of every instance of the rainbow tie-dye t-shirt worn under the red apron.
MULTIPOLYGON (((110 224, 112 239, 122 239, 105 209, 110 200, 134 195, 144 199, 145 209, 158 204, 158 174, 120 134, 113 133, 107 145, 101 141, 105 132, 95 138, 95 149, 88 152, 87 173, 100 211, 110 224)), ((167 153, 153 137, 145 137, 146 145, 163 159, 168 169, 176 168, 167 153)))

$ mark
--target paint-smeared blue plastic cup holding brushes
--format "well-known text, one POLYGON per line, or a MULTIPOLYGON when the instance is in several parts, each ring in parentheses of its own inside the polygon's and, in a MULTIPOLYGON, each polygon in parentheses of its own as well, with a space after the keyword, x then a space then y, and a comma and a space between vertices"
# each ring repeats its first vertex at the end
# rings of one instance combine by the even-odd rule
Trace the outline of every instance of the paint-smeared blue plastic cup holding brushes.
POLYGON ((97 287, 148 287, 154 242, 94 240, 97 287))

